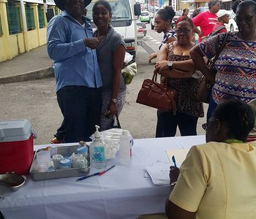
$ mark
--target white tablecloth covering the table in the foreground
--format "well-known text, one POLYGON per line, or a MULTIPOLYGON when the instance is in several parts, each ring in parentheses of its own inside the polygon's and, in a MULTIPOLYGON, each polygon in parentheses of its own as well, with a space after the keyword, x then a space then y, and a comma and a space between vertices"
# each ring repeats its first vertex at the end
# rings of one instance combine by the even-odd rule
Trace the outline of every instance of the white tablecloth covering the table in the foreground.
POLYGON ((203 143, 204 136, 135 139, 130 166, 117 164, 102 176, 80 182, 75 181, 78 177, 37 182, 29 177, 16 192, 0 186, 0 210, 6 219, 120 219, 164 212, 169 187, 146 179, 145 167, 157 160, 168 162, 167 149, 203 143))

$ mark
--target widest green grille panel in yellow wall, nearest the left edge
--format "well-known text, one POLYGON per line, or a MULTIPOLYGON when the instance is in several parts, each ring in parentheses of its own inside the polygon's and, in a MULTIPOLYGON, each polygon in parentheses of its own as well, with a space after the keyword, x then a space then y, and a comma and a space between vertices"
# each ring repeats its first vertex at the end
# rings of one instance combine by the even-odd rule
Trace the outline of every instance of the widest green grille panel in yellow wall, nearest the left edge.
POLYGON ((18 34, 22 31, 19 7, 7 6, 7 19, 10 35, 18 34))

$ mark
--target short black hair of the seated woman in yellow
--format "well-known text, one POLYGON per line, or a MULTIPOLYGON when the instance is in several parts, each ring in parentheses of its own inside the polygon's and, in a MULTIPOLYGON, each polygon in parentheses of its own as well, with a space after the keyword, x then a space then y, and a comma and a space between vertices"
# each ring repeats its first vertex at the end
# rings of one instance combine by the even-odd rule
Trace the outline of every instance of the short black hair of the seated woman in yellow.
POLYGON ((237 99, 219 104, 211 118, 218 119, 225 124, 228 137, 243 142, 246 141, 246 137, 255 125, 255 113, 252 108, 237 99))

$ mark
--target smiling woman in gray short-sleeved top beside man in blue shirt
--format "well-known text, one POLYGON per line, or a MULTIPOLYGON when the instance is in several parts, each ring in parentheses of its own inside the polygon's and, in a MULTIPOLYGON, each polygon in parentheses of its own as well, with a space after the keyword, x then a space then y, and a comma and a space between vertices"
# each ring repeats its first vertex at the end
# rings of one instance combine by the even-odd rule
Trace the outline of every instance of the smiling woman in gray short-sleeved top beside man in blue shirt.
POLYGON ((121 35, 110 26, 112 13, 107 1, 99 0, 94 4, 92 17, 97 26, 94 37, 99 39, 97 57, 103 82, 100 130, 103 131, 111 128, 113 115, 119 115, 124 106, 126 86, 121 69, 125 44, 121 35))

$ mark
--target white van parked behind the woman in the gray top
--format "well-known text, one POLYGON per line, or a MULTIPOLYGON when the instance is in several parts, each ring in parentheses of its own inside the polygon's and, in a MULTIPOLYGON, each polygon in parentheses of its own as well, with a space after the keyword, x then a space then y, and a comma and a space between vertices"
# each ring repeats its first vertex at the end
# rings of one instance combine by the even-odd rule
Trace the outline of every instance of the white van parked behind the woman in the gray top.
MULTIPOLYGON (((91 18, 91 24, 94 28, 92 20, 92 7, 97 0, 92 0, 91 4, 86 7, 88 18, 91 18)), ((111 24, 118 34, 124 38, 127 52, 136 56, 137 51, 137 27, 135 15, 140 15, 140 4, 135 4, 134 0, 107 0, 112 9, 111 24)))

